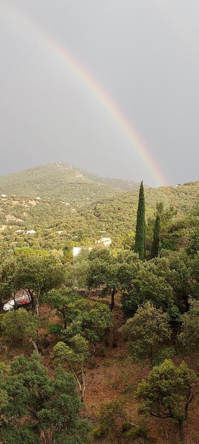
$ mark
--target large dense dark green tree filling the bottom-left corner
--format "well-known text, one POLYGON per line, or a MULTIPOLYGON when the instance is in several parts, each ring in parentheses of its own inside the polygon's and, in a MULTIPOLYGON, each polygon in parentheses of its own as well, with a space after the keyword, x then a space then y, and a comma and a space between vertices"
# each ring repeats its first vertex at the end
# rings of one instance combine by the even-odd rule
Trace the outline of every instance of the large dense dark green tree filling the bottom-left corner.
POLYGON ((4 394, 0 397, 2 443, 39 444, 49 435, 52 444, 89 442, 88 425, 79 419, 81 403, 73 376, 59 368, 53 379, 48 378, 38 355, 12 361, 0 380, 0 393, 4 394))

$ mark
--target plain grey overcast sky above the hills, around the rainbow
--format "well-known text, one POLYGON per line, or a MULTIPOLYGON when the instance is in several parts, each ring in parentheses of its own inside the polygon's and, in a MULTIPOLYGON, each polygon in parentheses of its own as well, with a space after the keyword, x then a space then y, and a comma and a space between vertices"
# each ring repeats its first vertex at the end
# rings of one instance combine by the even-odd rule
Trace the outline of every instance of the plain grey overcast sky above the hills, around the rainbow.
POLYGON ((199 0, 0 0, 0 175, 63 161, 157 185, 56 44, 112 97, 167 184, 199 180, 198 18, 199 0))

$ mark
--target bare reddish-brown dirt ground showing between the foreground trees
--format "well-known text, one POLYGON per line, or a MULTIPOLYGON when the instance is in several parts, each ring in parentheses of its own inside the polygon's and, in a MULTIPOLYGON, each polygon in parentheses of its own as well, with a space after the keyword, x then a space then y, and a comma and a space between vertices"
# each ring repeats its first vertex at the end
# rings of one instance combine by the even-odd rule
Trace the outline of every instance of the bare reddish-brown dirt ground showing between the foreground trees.
MULTIPOLYGON (((108 299, 105 299, 104 302, 108 303, 108 299)), ((85 368, 85 413, 91 424, 96 427, 99 423, 98 415, 101 406, 122 395, 125 397, 128 420, 139 424, 140 421, 144 422, 144 425, 147 427, 148 437, 151 437, 153 440, 127 439, 125 433, 121 432, 121 423, 118 423, 116 430, 112 431, 110 436, 95 439, 93 443, 179 443, 176 424, 171 420, 161 420, 152 417, 142 419, 139 417, 137 412, 138 404, 134 399, 134 393, 139 381, 147 376, 150 368, 147 363, 133 362, 129 357, 126 343, 123 341, 121 334, 118 333, 119 327, 125 322, 121 312, 119 296, 116 297, 113 314, 114 327, 109 336, 109 343, 106 346, 100 347, 101 356, 95 357, 94 367, 90 368, 88 364, 85 368)), ((43 362, 49 368, 49 374, 53 375, 54 364, 51 360, 51 350, 55 342, 53 336, 49 335, 50 344, 46 347, 45 337, 47 336, 48 325, 57 322, 58 318, 55 310, 51 310, 46 304, 40 309, 40 318, 41 328, 39 333, 43 344, 43 362)), ((3 344, 0 344, 1 360, 9 361, 12 357, 22 352, 24 354, 27 353, 28 356, 30 349, 25 351, 24 348, 22 350, 20 347, 5 347, 3 344)), ((191 369, 198 370, 199 356, 190 355, 183 357, 183 359, 191 369)), ((173 359, 176 364, 181 360, 178 357, 173 359)), ((185 437, 185 444, 199 444, 199 398, 197 397, 194 398, 189 407, 188 420, 185 423, 185 437)))

